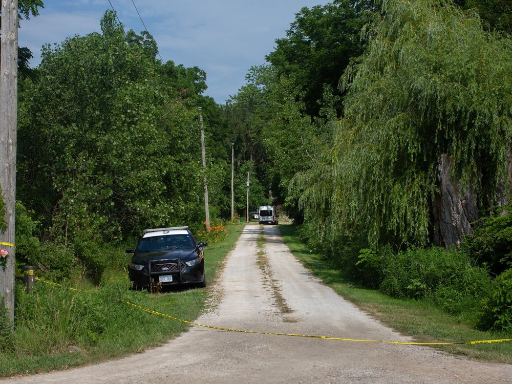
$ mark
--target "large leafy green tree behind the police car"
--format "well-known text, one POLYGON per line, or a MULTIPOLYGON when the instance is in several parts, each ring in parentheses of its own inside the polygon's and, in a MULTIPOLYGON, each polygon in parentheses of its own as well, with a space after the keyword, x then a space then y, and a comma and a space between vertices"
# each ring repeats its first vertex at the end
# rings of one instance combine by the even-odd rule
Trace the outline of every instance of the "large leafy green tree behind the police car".
POLYGON ((197 100, 180 83, 200 71, 157 62, 151 35, 125 37, 112 12, 101 31, 46 46, 22 106, 20 196, 60 243, 200 220, 197 100))

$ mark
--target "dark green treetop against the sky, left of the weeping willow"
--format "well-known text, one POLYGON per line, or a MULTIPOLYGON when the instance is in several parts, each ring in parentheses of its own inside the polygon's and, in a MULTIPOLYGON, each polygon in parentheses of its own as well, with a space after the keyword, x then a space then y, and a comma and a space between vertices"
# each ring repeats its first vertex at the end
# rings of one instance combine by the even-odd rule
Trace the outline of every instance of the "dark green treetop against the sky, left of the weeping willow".
MULTIPOLYGON (((286 31, 275 40, 276 47, 267 56, 278 76, 292 79, 304 93, 309 116, 318 116, 324 84, 337 90, 339 77, 351 57, 359 56, 363 44, 359 39, 368 22, 371 1, 336 0, 326 5, 303 7, 286 31)), ((338 95, 339 92, 336 92, 338 95)), ((337 106, 338 113, 342 105, 337 106)))

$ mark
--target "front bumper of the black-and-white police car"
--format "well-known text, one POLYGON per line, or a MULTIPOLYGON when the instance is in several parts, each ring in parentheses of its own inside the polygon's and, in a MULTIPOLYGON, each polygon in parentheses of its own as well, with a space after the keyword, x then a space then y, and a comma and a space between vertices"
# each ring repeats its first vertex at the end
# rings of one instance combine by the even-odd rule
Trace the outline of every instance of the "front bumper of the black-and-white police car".
POLYGON ((130 268, 128 276, 137 289, 160 283, 160 276, 173 276, 172 282, 161 282, 162 286, 197 284, 204 281, 204 260, 189 267, 180 258, 150 260, 140 271, 130 268), (152 282, 153 281, 153 282, 152 282))

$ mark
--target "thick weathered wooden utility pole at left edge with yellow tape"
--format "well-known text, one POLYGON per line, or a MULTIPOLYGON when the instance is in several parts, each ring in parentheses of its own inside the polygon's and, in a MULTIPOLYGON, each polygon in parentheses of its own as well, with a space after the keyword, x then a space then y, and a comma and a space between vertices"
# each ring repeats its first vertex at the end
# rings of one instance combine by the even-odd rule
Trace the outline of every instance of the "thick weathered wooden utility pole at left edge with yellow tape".
MULTIPOLYGON (((18 75, 18 0, 2 0, 0 46, 0 186, 7 230, 0 233, 0 248, 9 252, 0 265, 0 296, 14 320, 14 206, 16 199, 16 123, 18 75)), ((3 220, 4 218, 0 218, 3 220)))

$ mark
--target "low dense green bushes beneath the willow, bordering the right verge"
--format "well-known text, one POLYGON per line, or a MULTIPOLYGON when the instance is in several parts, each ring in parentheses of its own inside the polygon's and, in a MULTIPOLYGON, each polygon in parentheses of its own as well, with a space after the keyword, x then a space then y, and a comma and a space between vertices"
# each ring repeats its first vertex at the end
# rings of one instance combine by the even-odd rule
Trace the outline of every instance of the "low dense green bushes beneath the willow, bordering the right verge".
MULTIPOLYGON (((481 304, 492 296, 493 280, 488 270, 475 265, 463 249, 430 247, 400 252, 393 252, 390 246, 377 251, 362 249, 355 270, 357 278, 367 286, 378 287, 395 297, 431 300, 447 313, 470 318, 475 325, 481 323, 480 316, 488 315, 486 310, 482 311, 481 304)), ((507 282, 502 280, 499 286, 507 282)), ((500 297, 500 303, 510 300, 500 297)), ((489 310, 495 311, 494 307, 489 310)), ((505 324, 508 312, 496 311, 505 324)))

